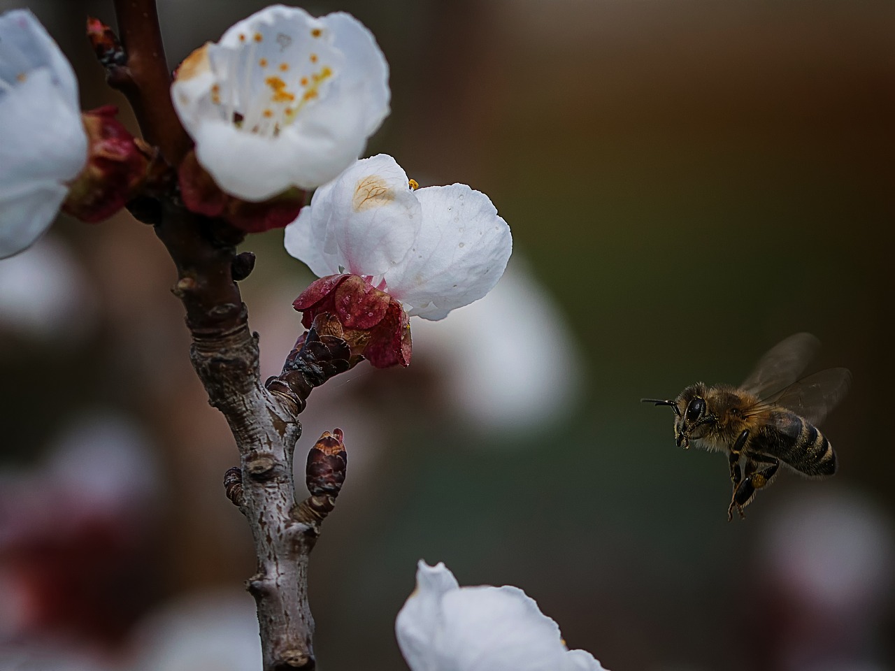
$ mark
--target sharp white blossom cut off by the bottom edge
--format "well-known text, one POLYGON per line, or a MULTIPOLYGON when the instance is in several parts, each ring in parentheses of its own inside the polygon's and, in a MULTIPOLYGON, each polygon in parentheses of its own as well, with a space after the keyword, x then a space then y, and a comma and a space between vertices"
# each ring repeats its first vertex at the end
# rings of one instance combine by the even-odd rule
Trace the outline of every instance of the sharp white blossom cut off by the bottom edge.
POLYGON ((523 590, 460 587, 441 563, 420 562, 395 633, 412 671, 604 671, 523 590))

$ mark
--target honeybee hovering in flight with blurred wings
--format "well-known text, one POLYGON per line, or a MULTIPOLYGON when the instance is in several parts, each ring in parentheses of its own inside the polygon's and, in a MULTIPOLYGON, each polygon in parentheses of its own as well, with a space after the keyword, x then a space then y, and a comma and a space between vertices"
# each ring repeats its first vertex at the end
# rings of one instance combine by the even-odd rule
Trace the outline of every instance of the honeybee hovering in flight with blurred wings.
POLYGON ((734 510, 746 517, 743 508, 771 484, 780 463, 809 478, 836 472, 836 453, 814 425, 846 394, 851 373, 833 368, 799 378, 818 349, 814 335, 797 333, 767 352, 741 386, 698 382, 673 401, 641 399, 671 406, 678 447, 728 453, 728 522, 734 510))

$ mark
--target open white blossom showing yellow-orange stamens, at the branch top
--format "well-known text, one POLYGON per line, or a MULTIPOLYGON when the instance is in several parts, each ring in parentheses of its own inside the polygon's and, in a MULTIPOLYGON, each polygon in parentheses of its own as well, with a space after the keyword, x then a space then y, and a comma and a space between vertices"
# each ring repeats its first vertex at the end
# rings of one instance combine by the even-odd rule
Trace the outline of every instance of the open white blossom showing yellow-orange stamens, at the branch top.
POLYGON ((388 64, 353 16, 275 4, 188 56, 171 95, 200 165, 257 202, 320 186, 360 155, 388 115, 388 64))

